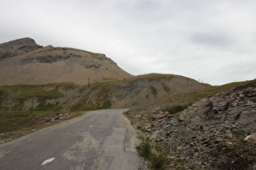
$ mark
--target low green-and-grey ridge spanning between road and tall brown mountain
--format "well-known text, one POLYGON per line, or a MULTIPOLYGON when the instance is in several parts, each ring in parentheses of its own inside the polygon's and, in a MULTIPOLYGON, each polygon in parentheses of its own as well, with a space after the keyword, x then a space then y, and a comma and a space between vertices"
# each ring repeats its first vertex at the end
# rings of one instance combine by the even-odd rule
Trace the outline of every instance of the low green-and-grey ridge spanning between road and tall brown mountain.
POLYGON ((172 74, 146 74, 125 80, 0 86, 0 110, 86 111, 131 108, 180 93, 202 91, 208 86, 172 74))

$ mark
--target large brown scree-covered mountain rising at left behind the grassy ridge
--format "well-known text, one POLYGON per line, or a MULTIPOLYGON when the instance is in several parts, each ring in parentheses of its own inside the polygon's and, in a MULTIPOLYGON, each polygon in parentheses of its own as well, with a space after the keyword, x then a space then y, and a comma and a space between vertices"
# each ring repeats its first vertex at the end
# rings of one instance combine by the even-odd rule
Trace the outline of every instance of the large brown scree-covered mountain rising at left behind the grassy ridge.
POLYGON ((79 49, 41 47, 33 39, 0 45, 0 85, 96 81, 131 77, 104 54, 79 49), (90 79, 90 80, 89 80, 90 79))

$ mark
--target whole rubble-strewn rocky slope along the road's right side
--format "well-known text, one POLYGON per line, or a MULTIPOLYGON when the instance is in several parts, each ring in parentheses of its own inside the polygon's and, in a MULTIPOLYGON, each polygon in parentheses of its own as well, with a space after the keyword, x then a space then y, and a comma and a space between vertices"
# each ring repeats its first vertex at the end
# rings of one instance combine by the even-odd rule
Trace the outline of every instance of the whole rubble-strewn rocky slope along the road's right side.
POLYGON ((256 168, 256 80, 201 100, 181 113, 148 117, 145 138, 167 152, 169 168, 256 168))

